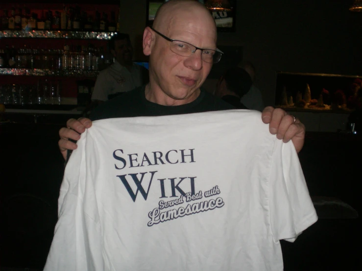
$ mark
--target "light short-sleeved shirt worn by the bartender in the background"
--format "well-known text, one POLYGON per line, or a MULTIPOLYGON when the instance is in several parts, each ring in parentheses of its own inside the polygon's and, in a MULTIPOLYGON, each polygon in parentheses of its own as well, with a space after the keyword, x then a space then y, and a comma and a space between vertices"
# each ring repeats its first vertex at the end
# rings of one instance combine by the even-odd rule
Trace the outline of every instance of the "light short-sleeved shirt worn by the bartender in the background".
POLYGON ((142 68, 133 64, 131 71, 117 61, 102 70, 96 80, 92 100, 107 101, 108 95, 133 90, 142 85, 142 68))

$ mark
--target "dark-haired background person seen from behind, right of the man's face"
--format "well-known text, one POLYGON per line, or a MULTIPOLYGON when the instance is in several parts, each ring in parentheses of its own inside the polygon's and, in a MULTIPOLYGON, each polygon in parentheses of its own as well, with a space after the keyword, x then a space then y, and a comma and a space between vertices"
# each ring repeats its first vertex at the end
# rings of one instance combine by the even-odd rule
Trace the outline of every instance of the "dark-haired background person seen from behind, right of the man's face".
POLYGON ((251 77, 244 69, 230 68, 220 77, 215 95, 237 109, 248 109, 240 99, 250 90, 251 84, 251 77))

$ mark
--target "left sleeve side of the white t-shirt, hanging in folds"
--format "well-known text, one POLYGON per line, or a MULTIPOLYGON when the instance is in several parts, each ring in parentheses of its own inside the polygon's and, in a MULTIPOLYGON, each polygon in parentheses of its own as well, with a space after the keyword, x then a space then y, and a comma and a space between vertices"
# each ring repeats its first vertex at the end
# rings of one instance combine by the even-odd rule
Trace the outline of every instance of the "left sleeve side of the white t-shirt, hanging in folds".
POLYGON ((87 189, 84 134, 65 170, 58 200, 58 222, 44 271, 103 270, 100 228, 84 210, 83 195, 87 189))

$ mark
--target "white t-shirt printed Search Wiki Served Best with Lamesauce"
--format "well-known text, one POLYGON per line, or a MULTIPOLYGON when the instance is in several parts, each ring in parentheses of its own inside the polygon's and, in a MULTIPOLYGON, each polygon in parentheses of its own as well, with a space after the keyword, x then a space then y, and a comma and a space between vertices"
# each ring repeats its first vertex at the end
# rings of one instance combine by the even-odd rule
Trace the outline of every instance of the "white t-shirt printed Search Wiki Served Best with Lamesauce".
POLYGON ((98 120, 77 144, 46 271, 280 271, 279 240, 317 220, 258 112, 98 120))

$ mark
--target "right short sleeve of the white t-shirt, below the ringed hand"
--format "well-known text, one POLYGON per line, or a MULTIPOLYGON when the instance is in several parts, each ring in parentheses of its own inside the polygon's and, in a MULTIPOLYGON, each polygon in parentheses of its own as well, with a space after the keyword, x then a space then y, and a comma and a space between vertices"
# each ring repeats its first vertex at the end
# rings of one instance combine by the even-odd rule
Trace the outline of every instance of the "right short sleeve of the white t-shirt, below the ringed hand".
POLYGON ((317 221, 298 155, 292 142, 276 140, 269 176, 269 215, 274 241, 294 242, 317 221))

